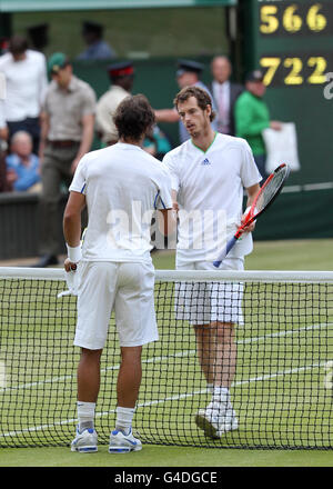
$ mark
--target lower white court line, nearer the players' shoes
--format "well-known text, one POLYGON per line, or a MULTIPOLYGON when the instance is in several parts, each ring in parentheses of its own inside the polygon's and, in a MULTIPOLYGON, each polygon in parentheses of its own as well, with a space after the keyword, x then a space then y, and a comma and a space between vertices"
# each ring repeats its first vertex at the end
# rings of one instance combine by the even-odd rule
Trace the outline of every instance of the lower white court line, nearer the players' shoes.
MULTIPOLYGON (((321 361, 320 363, 313 363, 313 365, 309 365, 309 366, 304 366, 304 367, 299 367, 299 368, 294 368, 294 369, 286 369, 286 370, 283 370, 283 371, 280 371, 280 372, 275 372, 275 373, 269 373, 269 375, 259 376, 259 377, 251 377, 250 379, 246 379, 246 380, 239 380, 238 382, 233 382, 231 385, 231 387, 236 388, 236 387, 244 386, 244 385, 252 383, 252 382, 262 382, 264 380, 271 380, 271 379, 275 379, 278 377, 283 377, 283 376, 286 376, 286 375, 304 372, 304 371, 311 370, 313 368, 323 368, 323 367, 326 366, 326 363, 327 363, 326 361, 321 361)), ((162 405, 164 402, 186 399, 186 398, 191 398, 191 397, 199 396, 201 393, 206 393, 206 392, 209 392, 209 389, 205 388, 205 389, 196 390, 194 392, 186 392, 186 393, 181 393, 181 395, 178 395, 178 396, 170 396, 170 397, 167 397, 164 399, 157 399, 154 401, 138 403, 138 408, 148 408, 150 406, 157 406, 157 405, 162 405)), ((101 418, 103 416, 109 416, 109 415, 114 413, 114 412, 115 412, 115 409, 111 409, 110 411, 101 411, 101 412, 97 412, 95 417, 97 418, 101 418)), ((75 422, 78 422, 78 419, 77 418, 72 418, 72 419, 65 419, 65 420, 62 420, 62 421, 56 421, 52 425, 41 425, 41 426, 24 428, 24 429, 22 429, 20 431, 9 431, 7 433, 0 435, 0 439, 1 438, 8 438, 8 437, 17 437, 17 436, 23 435, 26 432, 41 431, 41 430, 54 428, 56 426, 72 425, 72 423, 75 423, 75 422)))

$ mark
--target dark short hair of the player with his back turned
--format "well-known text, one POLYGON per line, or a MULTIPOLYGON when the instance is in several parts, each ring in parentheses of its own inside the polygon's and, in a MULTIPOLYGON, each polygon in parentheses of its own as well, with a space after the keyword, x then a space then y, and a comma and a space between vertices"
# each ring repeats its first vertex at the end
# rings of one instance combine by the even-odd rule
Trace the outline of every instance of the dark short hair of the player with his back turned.
POLYGON ((155 123, 155 114, 147 97, 139 93, 123 99, 118 106, 114 124, 120 138, 139 141, 155 123))

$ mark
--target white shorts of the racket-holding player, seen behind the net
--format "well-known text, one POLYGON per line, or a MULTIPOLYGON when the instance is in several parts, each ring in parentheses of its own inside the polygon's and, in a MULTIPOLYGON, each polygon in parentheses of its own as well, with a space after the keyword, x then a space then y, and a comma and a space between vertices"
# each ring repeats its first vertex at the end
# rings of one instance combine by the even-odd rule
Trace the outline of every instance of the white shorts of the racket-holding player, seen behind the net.
MULTIPOLYGON (((208 261, 193 261, 178 270, 216 270, 208 261)), ((244 270, 243 258, 225 258, 220 270, 244 270)), ((243 283, 240 282, 178 282, 175 286, 175 315, 191 325, 233 322, 243 325, 243 283)))

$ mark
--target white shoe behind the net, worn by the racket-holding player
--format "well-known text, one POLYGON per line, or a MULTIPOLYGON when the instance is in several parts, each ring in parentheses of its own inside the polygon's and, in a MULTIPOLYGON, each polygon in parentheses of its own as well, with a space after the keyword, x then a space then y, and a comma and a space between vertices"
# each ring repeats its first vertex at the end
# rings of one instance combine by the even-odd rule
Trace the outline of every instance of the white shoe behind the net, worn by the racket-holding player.
POLYGON ((228 431, 236 430, 239 421, 230 402, 211 402, 205 409, 200 409, 195 423, 210 438, 221 438, 228 431))

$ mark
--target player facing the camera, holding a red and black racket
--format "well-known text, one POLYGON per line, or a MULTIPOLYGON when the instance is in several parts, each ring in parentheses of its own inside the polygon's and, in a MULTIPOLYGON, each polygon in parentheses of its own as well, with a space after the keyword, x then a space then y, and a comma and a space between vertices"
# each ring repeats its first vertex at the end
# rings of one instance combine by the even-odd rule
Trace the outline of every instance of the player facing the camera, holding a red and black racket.
MULTIPOLYGON (((208 92, 186 87, 175 97, 174 106, 191 136, 163 160, 171 171, 179 213, 176 269, 216 270, 212 262, 243 217, 243 189, 249 207, 260 190, 261 176, 245 140, 213 131, 214 113, 208 92)), ((249 227, 221 269, 243 270, 244 256, 253 248, 253 228, 249 227)), ((183 311, 182 317, 194 326, 199 361, 212 392, 211 402, 199 410, 195 422, 212 438, 239 426, 230 387, 236 366, 234 325, 243 321, 241 301, 241 286, 211 286, 208 292, 194 285, 192 290, 186 288, 176 305, 178 313, 183 311)))

